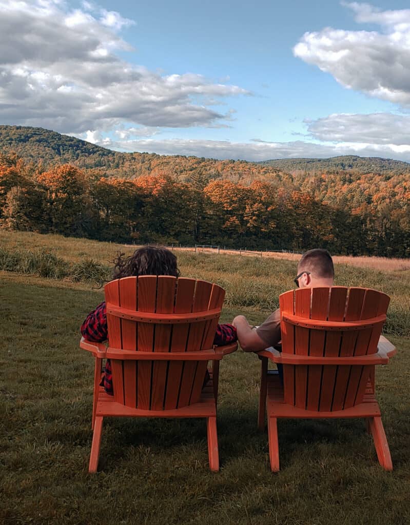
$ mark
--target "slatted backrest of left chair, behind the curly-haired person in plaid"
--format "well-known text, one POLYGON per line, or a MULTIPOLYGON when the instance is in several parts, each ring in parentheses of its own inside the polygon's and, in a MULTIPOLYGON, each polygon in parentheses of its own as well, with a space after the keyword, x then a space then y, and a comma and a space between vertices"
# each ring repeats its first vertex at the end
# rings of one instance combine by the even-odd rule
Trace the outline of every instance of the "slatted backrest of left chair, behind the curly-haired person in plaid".
POLYGON ((208 362, 201 352, 212 349, 224 296, 220 286, 195 279, 141 276, 109 282, 107 355, 110 349, 128 351, 124 359, 111 358, 115 401, 153 411, 198 402, 208 362), (167 360, 164 353, 173 352, 196 352, 198 360, 193 355, 167 360))

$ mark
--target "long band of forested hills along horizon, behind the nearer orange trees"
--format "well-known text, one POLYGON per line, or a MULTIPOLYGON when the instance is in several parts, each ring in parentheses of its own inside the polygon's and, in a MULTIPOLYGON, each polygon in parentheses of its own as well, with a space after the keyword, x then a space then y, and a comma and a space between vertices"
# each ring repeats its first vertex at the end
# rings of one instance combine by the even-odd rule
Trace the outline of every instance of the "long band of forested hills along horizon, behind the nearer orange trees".
POLYGON ((205 159, 183 155, 156 153, 123 153, 112 151, 84 140, 43 128, 0 125, 0 151, 14 151, 28 162, 44 167, 71 163, 96 176, 136 178, 141 175, 171 175, 179 181, 223 178, 242 184, 255 180, 280 182, 280 174, 300 172, 355 175, 373 173, 399 175, 410 173, 410 164, 371 157, 344 155, 330 159, 277 159, 247 162, 205 159))

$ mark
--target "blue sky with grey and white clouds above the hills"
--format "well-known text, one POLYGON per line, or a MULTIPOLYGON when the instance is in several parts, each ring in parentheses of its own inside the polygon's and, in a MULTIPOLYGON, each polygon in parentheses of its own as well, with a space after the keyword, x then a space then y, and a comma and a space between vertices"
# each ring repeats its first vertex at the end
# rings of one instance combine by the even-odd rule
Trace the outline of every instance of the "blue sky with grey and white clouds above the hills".
POLYGON ((0 0, 0 123, 121 151, 410 161, 406 4, 0 0))

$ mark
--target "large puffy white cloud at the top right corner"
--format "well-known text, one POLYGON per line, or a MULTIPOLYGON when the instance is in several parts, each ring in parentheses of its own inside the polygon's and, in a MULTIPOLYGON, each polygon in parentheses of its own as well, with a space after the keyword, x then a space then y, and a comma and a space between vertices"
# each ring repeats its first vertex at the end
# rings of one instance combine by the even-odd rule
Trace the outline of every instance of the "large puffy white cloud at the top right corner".
POLYGON ((293 48, 294 55, 330 73, 346 88, 410 105, 410 9, 343 5, 353 10, 356 22, 377 24, 381 31, 326 27, 305 33, 293 48))

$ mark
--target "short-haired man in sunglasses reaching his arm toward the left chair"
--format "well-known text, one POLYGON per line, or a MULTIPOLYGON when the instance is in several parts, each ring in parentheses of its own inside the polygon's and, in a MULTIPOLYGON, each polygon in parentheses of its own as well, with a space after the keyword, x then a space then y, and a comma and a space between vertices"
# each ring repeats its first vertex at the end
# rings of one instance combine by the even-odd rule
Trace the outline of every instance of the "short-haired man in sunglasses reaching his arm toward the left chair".
MULTIPOLYGON (((294 283, 298 288, 333 286, 334 266, 329 251, 315 248, 306 251, 298 264, 294 283)), ((276 346, 281 340, 281 317, 278 308, 259 327, 251 327, 245 316, 232 321, 237 329, 238 341, 245 352, 259 352, 276 346)))

